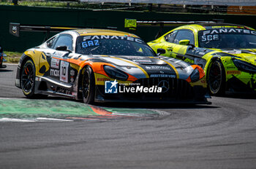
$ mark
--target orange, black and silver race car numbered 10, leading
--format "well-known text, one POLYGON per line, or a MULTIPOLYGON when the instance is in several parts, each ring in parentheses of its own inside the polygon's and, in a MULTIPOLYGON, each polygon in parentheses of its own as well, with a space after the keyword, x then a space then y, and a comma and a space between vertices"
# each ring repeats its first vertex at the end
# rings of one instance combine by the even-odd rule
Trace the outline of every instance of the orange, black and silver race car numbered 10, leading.
POLYGON ((157 56, 134 34, 103 29, 64 31, 26 50, 15 85, 28 98, 209 103, 203 68, 157 56))

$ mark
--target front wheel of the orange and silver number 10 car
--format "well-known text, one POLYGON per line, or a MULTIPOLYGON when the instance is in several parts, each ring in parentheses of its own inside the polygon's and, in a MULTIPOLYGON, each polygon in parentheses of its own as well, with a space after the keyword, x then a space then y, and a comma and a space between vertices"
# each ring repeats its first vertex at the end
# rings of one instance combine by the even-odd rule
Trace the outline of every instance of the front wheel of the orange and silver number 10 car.
POLYGON ((94 103, 95 79, 94 79, 94 71, 92 71, 90 66, 87 66, 84 70, 82 90, 83 90, 83 102, 94 103))

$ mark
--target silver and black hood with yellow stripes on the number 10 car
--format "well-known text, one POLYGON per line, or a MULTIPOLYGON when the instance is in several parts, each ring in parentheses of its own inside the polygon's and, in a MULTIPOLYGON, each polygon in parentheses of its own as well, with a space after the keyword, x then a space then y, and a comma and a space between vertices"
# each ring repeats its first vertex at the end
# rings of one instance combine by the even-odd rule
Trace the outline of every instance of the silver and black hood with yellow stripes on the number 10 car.
POLYGON ((104 56, 102 62, 111 63, 118 69, 136 78, 168 77, 187 79, 194 70, 181 60, 173 62, 170 58, 140 56, 104 56))

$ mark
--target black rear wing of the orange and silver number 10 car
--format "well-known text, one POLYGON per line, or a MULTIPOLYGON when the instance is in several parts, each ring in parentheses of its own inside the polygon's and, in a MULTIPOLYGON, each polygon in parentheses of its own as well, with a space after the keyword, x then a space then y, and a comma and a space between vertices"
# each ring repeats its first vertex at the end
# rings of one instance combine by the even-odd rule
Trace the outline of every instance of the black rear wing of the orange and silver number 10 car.
MULTIPOLYGON (((50 32, 61 32, 74 30, 82 27, 61 27, 61 26, 48 26, 48 25, 21 25, 20 23, 10 23, 10 34, 19 37, 20 31, 33 31, 47 33, 45 40, 50 38, 50 32)), ((116 27, 105 27, 108 29, 117 29, 116 27)))

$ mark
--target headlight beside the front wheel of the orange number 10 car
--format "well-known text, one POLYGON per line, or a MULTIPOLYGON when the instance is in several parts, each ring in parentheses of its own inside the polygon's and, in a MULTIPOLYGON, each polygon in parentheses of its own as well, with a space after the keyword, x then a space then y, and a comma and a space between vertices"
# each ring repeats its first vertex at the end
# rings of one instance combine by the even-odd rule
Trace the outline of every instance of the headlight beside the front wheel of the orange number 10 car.
POLYGON ((110 78, 112 79, 118 79, 118 80, 122 80, 122 81, 126 81, 128 79, 128 75, 124 73, 124 71, 120 71, 117 68, 114 68, 112 66, 103 66, 104 71, 106 72, 106 74, 108 74, 108 76, 110 76, 110 78))

